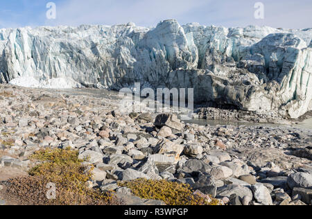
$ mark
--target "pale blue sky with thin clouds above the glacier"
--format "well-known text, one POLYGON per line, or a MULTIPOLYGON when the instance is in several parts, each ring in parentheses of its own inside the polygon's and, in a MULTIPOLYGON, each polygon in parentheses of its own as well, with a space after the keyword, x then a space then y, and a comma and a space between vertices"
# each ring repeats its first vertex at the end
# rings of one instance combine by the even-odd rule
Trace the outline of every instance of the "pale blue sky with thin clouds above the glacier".
POLYGON ((2 0, 0 3, 0 28, 114 25, 130 21, 137 26, 151 27, 164 19, 177 19, 180 24, 197 22, 205 26, 312 28, 312 1, 2 0), (55 3, 55 19, 46 17, 49 2, 55 3), (254 8, 257 2, 261 2, 261 8, 254 8), (263 19, 254 17, 256 11, 263 15, 263 19))

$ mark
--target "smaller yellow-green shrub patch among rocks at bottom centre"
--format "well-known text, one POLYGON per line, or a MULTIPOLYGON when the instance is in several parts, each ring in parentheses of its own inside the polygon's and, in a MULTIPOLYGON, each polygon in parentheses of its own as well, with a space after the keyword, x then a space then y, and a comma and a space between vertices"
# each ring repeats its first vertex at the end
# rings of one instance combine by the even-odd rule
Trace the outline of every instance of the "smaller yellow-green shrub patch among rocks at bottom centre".
POLYGON ((119 182, 119 186, 131 189, 140 198, 162 200, 168 205, 218 205, 218 200, 207 202, 199 195, 193 195, 188 184, 168 182, 166 180, 135 179, 119 182))

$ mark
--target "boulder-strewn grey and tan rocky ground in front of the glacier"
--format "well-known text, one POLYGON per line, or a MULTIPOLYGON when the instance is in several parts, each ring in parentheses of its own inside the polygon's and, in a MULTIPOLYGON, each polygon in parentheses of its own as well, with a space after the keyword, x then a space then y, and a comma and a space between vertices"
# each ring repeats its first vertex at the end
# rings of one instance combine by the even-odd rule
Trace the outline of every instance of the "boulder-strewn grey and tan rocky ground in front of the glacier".
MULTIPOLYGON (((121 114, 115 95, 0 85, 0 190, 27 175, 37 150, 71 148, 95 167, 90 189, 116 191, 125 204, 163 204, 119 184, 138 178, 189 184, 222 204, 311 204, 311 129, 121 114)), ((0 204, 12 202, 7 195, 0 191, 0 204)))

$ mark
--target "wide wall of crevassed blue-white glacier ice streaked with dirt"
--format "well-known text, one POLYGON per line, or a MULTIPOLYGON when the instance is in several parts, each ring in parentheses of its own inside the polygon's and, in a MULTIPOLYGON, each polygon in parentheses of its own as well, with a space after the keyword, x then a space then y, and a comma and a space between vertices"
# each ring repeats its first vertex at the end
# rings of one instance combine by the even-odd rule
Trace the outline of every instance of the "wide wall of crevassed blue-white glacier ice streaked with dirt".
POLYGON ((312 110, 312 28, 176 20, 0 30, 0 82, 24 87, 194 88, 197 103, 297 119, 312 110))

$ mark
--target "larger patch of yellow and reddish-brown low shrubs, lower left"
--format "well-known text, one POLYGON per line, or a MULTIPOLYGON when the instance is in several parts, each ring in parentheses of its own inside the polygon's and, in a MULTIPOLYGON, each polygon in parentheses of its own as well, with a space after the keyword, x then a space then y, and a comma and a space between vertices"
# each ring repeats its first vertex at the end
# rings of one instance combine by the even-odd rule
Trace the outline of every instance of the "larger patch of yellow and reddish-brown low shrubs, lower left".
POLYGON ((11 179, 6 193, 21 204, 51 205, 111 205, 122 204, 113 193, 88 189, 86 182, 92 177, 92 166, 83 165, 78 152, 47 149, 35 152, 31 159, 40 164, 29 170, 29 177, 11 179), (56 199, 48 200, 48 183, 56 187, 56 199))

